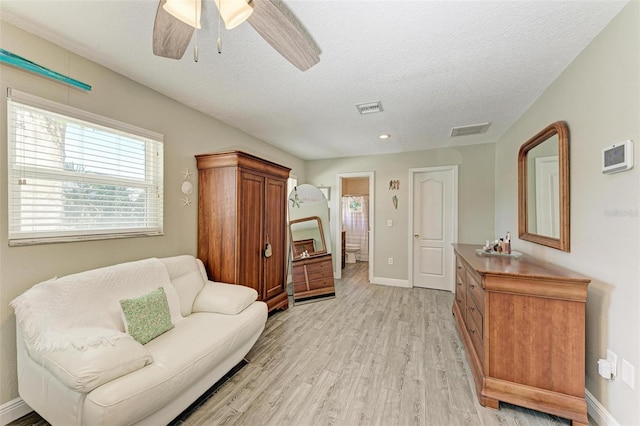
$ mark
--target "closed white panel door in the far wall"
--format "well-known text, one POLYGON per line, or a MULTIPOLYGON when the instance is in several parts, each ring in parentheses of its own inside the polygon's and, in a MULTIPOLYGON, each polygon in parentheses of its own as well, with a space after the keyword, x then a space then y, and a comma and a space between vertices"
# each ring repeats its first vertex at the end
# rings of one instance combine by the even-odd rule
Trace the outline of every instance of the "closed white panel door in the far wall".
POLYGON ((454 290, 457 166, 413 174, 413 285, 454 290))

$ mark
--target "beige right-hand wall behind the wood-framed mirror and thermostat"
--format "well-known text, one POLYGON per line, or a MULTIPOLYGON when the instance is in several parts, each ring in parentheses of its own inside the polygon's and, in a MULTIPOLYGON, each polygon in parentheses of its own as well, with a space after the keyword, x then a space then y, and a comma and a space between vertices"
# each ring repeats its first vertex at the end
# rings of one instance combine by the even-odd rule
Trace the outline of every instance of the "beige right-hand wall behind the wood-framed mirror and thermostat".
POLYGON ((623 425, 640 424, 640 3, 630 2, 496 145, 496 229, 517 228, 520 145, 565 120, 570 132, 571 253, 516 237, 513 248, 591 277, 586 385, 623 425), (632 139, 635 166, 601 173, 601 150, 632 139), (636 390, 598 375, 610 348, 635 366, 636 390))

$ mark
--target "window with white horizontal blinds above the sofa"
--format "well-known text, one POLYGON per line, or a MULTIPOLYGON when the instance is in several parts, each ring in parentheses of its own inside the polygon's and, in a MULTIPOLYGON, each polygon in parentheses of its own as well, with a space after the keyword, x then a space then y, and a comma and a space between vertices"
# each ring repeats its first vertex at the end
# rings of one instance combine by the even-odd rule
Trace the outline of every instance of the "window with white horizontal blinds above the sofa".
POLYGON ((162 235, 163 136, 16 90, 9 245, 162 235))

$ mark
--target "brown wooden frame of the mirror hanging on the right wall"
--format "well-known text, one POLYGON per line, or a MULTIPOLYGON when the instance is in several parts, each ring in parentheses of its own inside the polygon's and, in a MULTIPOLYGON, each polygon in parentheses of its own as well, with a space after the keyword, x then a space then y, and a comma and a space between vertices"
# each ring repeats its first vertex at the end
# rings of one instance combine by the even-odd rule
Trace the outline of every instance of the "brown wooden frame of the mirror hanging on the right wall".
POLYGON ((570 251, 570 196, 569 196, 569 128, 564 121, 556 121, 526 141, 518 152, 518 234, 521 240, 541 244, 558 250, 570 251), (529 232, 527 215, 528 182, 527 154, 550 137, 558 135, 559 167, 559 228, 558 238, 529 232))

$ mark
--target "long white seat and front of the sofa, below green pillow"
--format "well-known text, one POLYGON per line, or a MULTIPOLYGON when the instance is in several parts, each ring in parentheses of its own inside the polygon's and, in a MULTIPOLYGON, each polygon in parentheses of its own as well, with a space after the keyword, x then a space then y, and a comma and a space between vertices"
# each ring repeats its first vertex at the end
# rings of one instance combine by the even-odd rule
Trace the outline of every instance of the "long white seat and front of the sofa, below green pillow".
POLYGON ((253 303, 238 315, 194 313, 186 317, 145 346, 153 364, 87 395, 83 423, 103 424, 104 419, 109 419, 109 424, 139 422, 233 359, 234 363, 220 373, 222 377, 253 346, 266 320, 263 302, 253 303))

